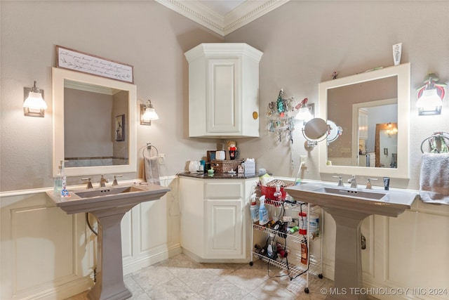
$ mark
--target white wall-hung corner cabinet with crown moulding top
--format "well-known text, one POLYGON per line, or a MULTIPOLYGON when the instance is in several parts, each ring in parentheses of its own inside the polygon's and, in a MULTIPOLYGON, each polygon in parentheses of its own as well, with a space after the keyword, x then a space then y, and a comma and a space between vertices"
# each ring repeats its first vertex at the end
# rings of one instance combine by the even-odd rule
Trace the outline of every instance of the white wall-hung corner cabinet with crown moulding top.
POLYGON ((244 43, 207 43, 185 57, 189 137, 258 137, 262 52, 244 43))

